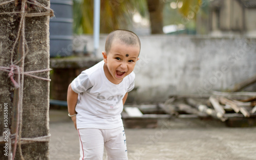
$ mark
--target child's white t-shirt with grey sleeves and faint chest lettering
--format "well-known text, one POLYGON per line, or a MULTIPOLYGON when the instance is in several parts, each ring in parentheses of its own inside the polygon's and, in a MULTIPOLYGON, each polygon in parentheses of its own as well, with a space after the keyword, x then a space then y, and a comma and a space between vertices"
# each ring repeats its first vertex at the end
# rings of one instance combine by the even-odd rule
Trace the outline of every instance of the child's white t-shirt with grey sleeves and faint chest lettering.
POLYGON ((135 73, 125 76, 118 85, 105 76, 104 61, 82 71, 71 87, 78 93, 76 104, 77 128, 113 129, 123 126, 122 99, 134 88, 135 73))

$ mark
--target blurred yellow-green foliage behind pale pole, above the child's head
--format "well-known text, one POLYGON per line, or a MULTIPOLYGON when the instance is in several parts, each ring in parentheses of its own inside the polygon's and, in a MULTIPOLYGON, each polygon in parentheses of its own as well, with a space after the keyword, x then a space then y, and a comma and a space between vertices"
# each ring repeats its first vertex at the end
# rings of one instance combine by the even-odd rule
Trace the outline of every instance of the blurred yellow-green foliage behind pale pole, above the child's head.
MULTIPOLYGON (((74 0, 74 33, 93 34, 93 0, 74 0)), ((147 11, 146 0, 101 0, 100 33, 129 29, 135 11, 142 16, 147 11)))

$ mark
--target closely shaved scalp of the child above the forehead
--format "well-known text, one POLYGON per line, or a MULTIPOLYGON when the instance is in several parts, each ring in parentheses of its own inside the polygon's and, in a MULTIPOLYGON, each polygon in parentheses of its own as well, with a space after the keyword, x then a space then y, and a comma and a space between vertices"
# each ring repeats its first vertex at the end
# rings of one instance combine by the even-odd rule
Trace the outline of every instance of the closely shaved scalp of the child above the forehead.
POLYGON ((111 45, 114 40, 119 40, 127 45, 140 46, 140 39, 135 33, 127 30, 116 30, 111 32, 108 35, 108 37, 106 37, 106 43, 105 43, 106 54, 109 54, 111 45))

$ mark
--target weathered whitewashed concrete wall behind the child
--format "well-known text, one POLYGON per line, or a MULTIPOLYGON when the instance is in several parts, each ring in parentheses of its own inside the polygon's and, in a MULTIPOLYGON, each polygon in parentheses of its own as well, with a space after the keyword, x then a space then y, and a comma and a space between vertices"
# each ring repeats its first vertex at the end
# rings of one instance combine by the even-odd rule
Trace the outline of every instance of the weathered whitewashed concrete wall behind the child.
MULTIPOLYGON (((105 38, 100 37, 97 57, 102 57, 105 38)), ((92 36, 82 39, 93 50, 92 36)), ((165 101, 175 94, 204 96, 211 90, 232 89, 256 74, 255 39, 155 35, 140 36, 140 40, 136 90, 130 94, 138 103, 165 101)))

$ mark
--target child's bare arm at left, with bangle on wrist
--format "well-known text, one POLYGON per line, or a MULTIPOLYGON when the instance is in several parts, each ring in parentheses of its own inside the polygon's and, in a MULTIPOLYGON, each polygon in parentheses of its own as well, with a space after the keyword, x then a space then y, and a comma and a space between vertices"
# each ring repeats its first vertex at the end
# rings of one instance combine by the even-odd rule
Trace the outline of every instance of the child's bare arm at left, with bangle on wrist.
MULTIPOLYGON (((70 84, 68 88, 68 96, 67 96, 68 112, 70 115, 76 114, 75 108, 76 108, 77 98, 78 98, 78 94, 72 90, 72 87, 70 84)), ((72 116, 71 119, 74 122, 74 125, 76 128, 76 116, 72 116)))

